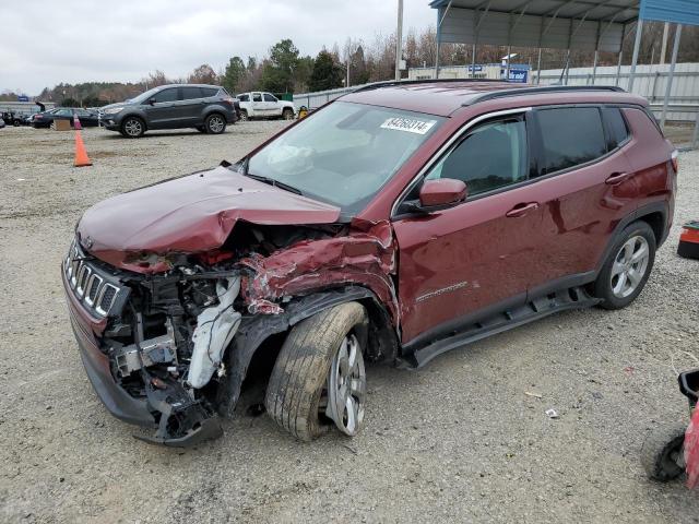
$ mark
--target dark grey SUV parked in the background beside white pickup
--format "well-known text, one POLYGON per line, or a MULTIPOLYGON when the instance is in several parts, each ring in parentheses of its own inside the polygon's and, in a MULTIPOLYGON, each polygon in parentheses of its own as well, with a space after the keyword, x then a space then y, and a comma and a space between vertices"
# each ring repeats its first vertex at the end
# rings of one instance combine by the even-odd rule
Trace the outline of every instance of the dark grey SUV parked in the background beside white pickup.
POLYGON ((238 120, 236 100, 226 90, 199 84, 162 85, 102 111, 105 127, 129 139, 154 129, 194 128, 220 134, 238 120))

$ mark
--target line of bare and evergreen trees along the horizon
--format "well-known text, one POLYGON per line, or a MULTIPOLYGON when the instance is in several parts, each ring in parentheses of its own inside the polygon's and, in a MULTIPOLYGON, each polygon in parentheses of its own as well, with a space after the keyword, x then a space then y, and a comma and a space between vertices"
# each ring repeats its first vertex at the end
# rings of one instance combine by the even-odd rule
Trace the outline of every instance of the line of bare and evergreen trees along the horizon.
MULTIPOLYGON (((659 63, 663 24, 659 22, 643 25, 643 40, 639 63, 659 63)), ((670 33, 666 61, 674 27, 670 33)), ((624 63, 629 63, 633 46, 633 32, 624 41, 624 63)), ((699 27, 685 27, 678 60, 699 61, 699 27)), ((529 63, 533 69, 538 61, 538 50, 532 48, 512 48, 517 52, 518 63, 529 63)), ((499 62, 507 53, 505 46, 478 46, 476 63, 499 62)), ((569 67, 590 66, 593 52, 571 50, 569 67)), ((473 61, 472 46, 442 44, 440 64, 463 66, 473 61)), ((437 57, 437 35, 435 26, 422 32, 411 29, 404 37, 403 58, 407 68, 434 67, 437 57)), ((565 49, 544 49, 542 69, 562 68, 567 60, 565 49)), ((601 52, 600 66, 616 64, 618 55, 601 52)), ((200 83, 223 85, 230 94, 253 90, 276 94, 304 93, 359 85, 394 78, 395 34, 375 35, 371 41, 347 38, 343 46, 336 43, 331 48, 323 47, 316 57, 301 56, 294 43, 286 38, 274 44, 262 59, 257 57, 234 56, 218 71, 204 63, 185 78, 168 78, 163 71, 155 71, 140 82, 85 82, 80 84, 60 83, 46 87, 36 97, 39 100, 56 102, 63 106, 94 107, 132 98, 147 88, 171 83, 200 83)), ((403 72, 406 75, 406 72, 403 72)), ((15 100, 16 92, 0 94, 0 100, 15 100)))

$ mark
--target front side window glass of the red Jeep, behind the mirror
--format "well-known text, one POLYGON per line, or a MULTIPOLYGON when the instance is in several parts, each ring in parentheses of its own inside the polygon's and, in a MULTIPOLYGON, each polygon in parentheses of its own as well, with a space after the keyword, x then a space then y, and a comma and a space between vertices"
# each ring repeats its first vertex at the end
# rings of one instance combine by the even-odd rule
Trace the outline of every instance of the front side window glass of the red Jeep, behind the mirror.
POLYGON ((523 117, 474 128, 427 175, 463 180, 469 196, 526 179, 526 124, 523 117))

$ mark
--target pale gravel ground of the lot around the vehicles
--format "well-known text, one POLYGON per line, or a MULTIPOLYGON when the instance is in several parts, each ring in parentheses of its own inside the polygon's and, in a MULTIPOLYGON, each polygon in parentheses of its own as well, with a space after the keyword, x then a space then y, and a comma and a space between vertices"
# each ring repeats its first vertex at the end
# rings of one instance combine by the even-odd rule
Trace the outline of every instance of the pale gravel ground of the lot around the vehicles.
POLYGON ((676 225, 633 306, 560 313, 419 371, 369 367, 353 440, 304 444, 247 415, 194 450, 132 439, 70 330, 59 264, 73 226, 106 196, 237 159, 283 126, 86 130, 95 165, 82 169, 72 133, 0 131, 0 522, 699 521, 695 493, 639 463, 648 431, 687 418, 670 364, 689 368, 680 352, 699 349, 699 262, 675 254, 677 224, 699 217, 699 152, 680 156, 676 225))

